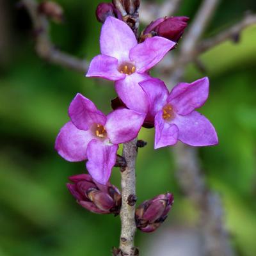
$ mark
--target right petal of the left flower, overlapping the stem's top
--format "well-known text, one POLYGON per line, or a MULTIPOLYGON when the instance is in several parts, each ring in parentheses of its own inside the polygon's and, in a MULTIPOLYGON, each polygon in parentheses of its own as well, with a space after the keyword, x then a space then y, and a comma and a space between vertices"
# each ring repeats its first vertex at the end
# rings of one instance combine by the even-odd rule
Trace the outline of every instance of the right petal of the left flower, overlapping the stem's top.
POLYGON ((145 119, 145 113, 130 109, 117 109, 107 116, 106 130, 113 144, 125 143, 134 139, 145 119))

